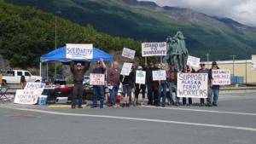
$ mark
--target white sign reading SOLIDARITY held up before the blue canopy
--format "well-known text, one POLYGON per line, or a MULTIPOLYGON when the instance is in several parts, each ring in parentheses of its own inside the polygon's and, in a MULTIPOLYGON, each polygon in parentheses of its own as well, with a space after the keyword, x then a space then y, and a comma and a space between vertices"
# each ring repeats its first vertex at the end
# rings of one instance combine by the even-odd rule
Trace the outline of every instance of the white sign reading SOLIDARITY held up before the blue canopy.
POLYGON ((66 44, 67 59, 92 59, 93 45, 92 44, 66 44))

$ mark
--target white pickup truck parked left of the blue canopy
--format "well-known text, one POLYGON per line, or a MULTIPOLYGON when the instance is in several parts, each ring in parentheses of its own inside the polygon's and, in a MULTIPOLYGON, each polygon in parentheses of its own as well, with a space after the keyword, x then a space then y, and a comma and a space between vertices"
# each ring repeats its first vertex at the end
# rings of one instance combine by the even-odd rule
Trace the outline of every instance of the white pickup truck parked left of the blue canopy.
POLYGON ((25 76, 26 82, 41 82, 40 76, 33 76, 24 70, 9 70, 3 73, 3 84, 20 84, 20 77, 25 76))

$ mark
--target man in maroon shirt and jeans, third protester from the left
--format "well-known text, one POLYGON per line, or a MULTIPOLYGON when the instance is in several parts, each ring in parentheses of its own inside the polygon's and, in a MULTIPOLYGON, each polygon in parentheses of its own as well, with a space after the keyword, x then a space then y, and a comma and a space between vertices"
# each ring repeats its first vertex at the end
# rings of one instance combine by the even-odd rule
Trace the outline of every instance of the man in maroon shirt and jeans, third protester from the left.
POLYGON ((120 71, 119 71, 119 63, 117 61, 113 61, 112 68, 108 69, 107 72, 107 82, 108 82, 108 89, 110 92, 110 106, 111 107, 119 107, 115 103, 116 96, 119 92, 119 84, 120 84, 120 71))

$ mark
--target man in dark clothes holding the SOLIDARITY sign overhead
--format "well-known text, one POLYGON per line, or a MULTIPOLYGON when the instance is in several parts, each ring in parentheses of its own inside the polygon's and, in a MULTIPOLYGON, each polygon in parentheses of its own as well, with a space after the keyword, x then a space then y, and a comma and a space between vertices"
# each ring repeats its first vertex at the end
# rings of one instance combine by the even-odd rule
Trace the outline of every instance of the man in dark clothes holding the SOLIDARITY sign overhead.
POLYGON ((79 108, 82 107, 82 97, 84 92, 83 87, 83 80, 84 80, 84 73, 89 69, 90 61, 84 61, 84 66, 80 62, 77 63, 75 66, 75 62, 72 60, 70 62, 70 69, 73 73, 73 97, 72 97, 72 104, 71 108, 74 109, 76 106, 76 99, 79 98, 79 108))

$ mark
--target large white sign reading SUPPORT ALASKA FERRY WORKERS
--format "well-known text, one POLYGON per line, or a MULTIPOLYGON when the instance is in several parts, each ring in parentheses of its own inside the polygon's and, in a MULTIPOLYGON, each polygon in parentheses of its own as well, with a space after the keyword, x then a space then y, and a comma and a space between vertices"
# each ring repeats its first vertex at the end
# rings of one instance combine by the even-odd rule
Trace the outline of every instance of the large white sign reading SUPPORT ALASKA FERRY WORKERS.
POLYGON ((177 73, 177 97, 207 98, 208 73, 177 73))

